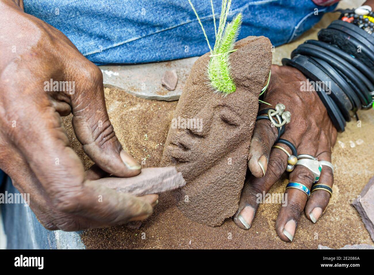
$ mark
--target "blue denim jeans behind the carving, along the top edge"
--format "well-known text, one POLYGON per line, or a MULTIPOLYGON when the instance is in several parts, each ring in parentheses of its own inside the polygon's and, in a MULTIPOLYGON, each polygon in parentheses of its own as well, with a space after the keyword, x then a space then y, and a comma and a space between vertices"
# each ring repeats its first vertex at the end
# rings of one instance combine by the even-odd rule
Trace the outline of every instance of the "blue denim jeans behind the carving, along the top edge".
MULTIPOLYGON (((210 1, 191 1, 214 44, 210 1)), ((213 2, 218 24, 221 0, 213 2)), ((242 12, 239 39, 263 35, 279 46, 300 36, 335 6, 317 6, 312 0, 235 0, 228 20, 242 12)), ((24 0, 24 8, 62 31, 96 64, 166 61, 209 51, 188 0, 24 0)))

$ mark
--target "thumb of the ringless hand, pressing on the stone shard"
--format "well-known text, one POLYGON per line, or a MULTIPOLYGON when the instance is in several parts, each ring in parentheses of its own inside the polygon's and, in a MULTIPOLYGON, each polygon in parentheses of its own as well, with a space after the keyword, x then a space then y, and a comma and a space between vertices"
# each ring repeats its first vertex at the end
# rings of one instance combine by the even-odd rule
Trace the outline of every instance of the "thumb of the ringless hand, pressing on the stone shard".
POLYGON ((83 150, 110 174, 118 177, 138 175, 140 164, 123 150, 109 120, 101 70, 92 64, 82 71, 85 80, 76 84, 77 92, 71 95, 71 105, 74 132, 83 150))

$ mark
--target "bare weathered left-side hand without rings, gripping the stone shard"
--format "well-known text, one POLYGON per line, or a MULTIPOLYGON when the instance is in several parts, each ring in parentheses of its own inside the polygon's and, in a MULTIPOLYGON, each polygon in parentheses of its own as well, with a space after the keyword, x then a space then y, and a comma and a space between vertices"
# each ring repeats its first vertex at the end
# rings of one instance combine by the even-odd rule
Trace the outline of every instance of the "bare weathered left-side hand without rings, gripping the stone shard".
MULTIPOLYGON (((20 7, 21 6, 21 7, 20 7)), ((60 31, 0 0, 0 168, 47 229, 81 230, 150 216, 157 195, 134 197, 96 183, 132 177, 141 166, 118 141, 105 107, 102 73, 60 31), (74 81, 75 91, 45 91, 45 81, 74 81), (85 172, 60 116, 95 162, 85 172), (107 178, 106 180, 110 180, 107 178)))

